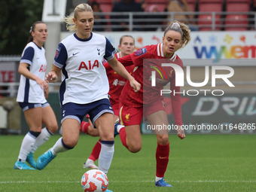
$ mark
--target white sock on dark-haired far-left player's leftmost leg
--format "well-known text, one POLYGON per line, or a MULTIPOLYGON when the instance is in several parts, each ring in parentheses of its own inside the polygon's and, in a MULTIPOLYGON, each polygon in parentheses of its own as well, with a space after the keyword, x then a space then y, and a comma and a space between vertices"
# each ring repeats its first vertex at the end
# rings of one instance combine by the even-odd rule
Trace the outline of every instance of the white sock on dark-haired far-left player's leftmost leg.
POLYGON ((26 136, 24 137, 23 142, 21 143, 18 160, 20 160, 23 163, 26 161, 26 157, 32 150, 32 147, 35 143, 35 139, 36 137, 33 136, 31 133, 26 133, 26 136))

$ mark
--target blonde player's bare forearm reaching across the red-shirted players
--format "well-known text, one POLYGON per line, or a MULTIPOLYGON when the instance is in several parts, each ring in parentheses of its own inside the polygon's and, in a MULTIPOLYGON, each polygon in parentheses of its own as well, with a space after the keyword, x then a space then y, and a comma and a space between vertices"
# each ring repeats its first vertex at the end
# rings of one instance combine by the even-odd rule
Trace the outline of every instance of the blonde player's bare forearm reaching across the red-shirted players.
POLYGON ((111 60, 108 60, 108 64, 111 66, 111 68, 117 72, 117 74, 121 75, 123 78, 126 78, 130 81, 130 86, 133 87, 133 90, 135 92, 138 92, 141 88, 141 84, 139 84, 132 75, 129 74, 129 72, 126 71, 124 66, 117 61, 117 59, 114 57, 111 60))

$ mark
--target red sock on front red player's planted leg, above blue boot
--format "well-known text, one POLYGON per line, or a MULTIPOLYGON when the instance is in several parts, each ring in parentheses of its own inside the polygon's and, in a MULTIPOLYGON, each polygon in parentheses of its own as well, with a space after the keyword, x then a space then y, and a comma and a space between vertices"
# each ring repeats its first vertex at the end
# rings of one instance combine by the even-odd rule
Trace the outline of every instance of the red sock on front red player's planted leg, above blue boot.
POLYGON ((167 145, 160 145, 157 143, 157 177, 163 178, 164 173, 169 162, 169 142, 167 145))

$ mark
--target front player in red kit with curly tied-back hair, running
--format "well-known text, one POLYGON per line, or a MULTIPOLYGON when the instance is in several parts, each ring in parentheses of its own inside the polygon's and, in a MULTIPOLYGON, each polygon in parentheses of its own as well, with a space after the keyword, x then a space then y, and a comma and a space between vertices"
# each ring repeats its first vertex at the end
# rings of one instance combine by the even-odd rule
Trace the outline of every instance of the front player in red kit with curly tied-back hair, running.
MULTIPOLYGON (((139 125, 142 117, 148 120, 152 126, 168 126, 167 114, 160 90, 170 82, 172 111, 177 132, 180 139, 185 138, 181 129, 181 98, 180 87, 175 86, 175 71, 172 67, 163 67, 161 63, 175 63, 183 68, 183 63, 175 53, 176 50, 185 47, 190 41, 190 29, 184 24, 175 21, 168 26, 163 35, 162 44, 143 47, 135 53, 118 59, 123 66, 134 64, 133 77, 142 84, 138 93, 131 91, 127 84, 123 87, 120 96, 120 122, 124 126, 117 126, 117 132, 123 145, 131 152, 136 153, 142 148, 142 138, 139 125), (144 59, 144 62, 143 62, 144 59), (152 74, 155 72, 156 85, 152 86, 152 74), (175 92, 175 94, 173 94, 175 92)), ((169 161, 169 137, 168 130, 155 130, 157 136, 157 172, 155 185, 158 187, 172 187, 163 177, 169 161)))

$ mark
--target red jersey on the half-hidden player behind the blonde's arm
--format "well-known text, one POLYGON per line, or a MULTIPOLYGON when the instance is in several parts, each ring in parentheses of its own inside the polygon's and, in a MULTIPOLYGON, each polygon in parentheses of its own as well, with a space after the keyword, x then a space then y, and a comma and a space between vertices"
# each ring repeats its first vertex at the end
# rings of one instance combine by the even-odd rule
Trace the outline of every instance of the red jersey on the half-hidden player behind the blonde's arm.
MULTIPOLYGON (((115 53, 114 56, 116 58, 120 58, 121 54, 115 53)), ((110 103, 111 105, 119 104, 119 97, 120 93, 123 90, 123 86, 126 83, 126 78, 123 78, 121 75, 118 75, 117 72, 109 66, 108 62, 103 64, 105 66, 107 76, 108 76, 108 83, 109 83, 109 92, 108 95, 110 96, 110 103)), ((133 72, 134 66, 126 66, 125 67, 127 72, 130 74, 133 72)))

